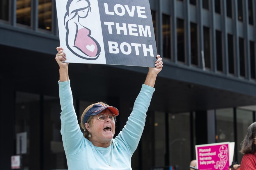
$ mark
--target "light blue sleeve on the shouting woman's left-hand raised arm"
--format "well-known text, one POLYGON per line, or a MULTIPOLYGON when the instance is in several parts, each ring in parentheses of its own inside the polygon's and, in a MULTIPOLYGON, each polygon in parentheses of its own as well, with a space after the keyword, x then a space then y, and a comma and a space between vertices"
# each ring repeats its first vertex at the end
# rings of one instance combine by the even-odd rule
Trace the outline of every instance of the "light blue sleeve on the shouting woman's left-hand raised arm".
POLYGON ((61 103, 61 135, 66 154, 72 155, 84 149, 83 133, 80 130, 73 106, 70 80, 59 82, 61 103))

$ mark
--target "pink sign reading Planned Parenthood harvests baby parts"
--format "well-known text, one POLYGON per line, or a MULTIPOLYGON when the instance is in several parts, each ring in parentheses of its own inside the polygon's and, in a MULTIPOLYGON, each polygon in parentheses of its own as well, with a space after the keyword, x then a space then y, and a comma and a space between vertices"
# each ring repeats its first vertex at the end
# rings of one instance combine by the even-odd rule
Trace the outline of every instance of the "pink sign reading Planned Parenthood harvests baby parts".
POLYGON ((196 145, 196 158, 200 170, 228 170, 229 144, 196 145))

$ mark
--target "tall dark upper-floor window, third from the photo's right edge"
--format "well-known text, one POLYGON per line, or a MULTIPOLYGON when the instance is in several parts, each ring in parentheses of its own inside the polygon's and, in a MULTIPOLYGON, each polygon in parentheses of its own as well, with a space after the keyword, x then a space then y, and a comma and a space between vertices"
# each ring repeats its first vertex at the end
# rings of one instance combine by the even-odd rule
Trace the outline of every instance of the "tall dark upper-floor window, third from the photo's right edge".
POLYGON ((235 74, 234 70, 234 39, 233 35, 227 35, 227 45, 228 45, 228 72, 235 74))

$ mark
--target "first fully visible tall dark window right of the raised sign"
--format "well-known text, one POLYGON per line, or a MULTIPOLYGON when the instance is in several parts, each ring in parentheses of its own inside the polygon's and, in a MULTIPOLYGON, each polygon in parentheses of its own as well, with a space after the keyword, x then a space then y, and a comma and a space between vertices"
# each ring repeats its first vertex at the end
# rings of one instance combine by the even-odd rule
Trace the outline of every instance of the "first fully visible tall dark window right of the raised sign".
POLYGON ((171 58, 170 16, 163 14, 163 57, 171 58))

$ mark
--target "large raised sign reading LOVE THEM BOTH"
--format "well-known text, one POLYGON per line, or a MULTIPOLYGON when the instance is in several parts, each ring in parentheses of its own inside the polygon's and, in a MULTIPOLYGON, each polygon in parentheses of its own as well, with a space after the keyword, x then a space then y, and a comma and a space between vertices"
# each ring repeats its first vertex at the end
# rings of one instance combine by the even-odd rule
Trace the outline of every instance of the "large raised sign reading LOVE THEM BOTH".
POLYGON ((66 62, 154 67, 148 0, 56 0, 66 62))

